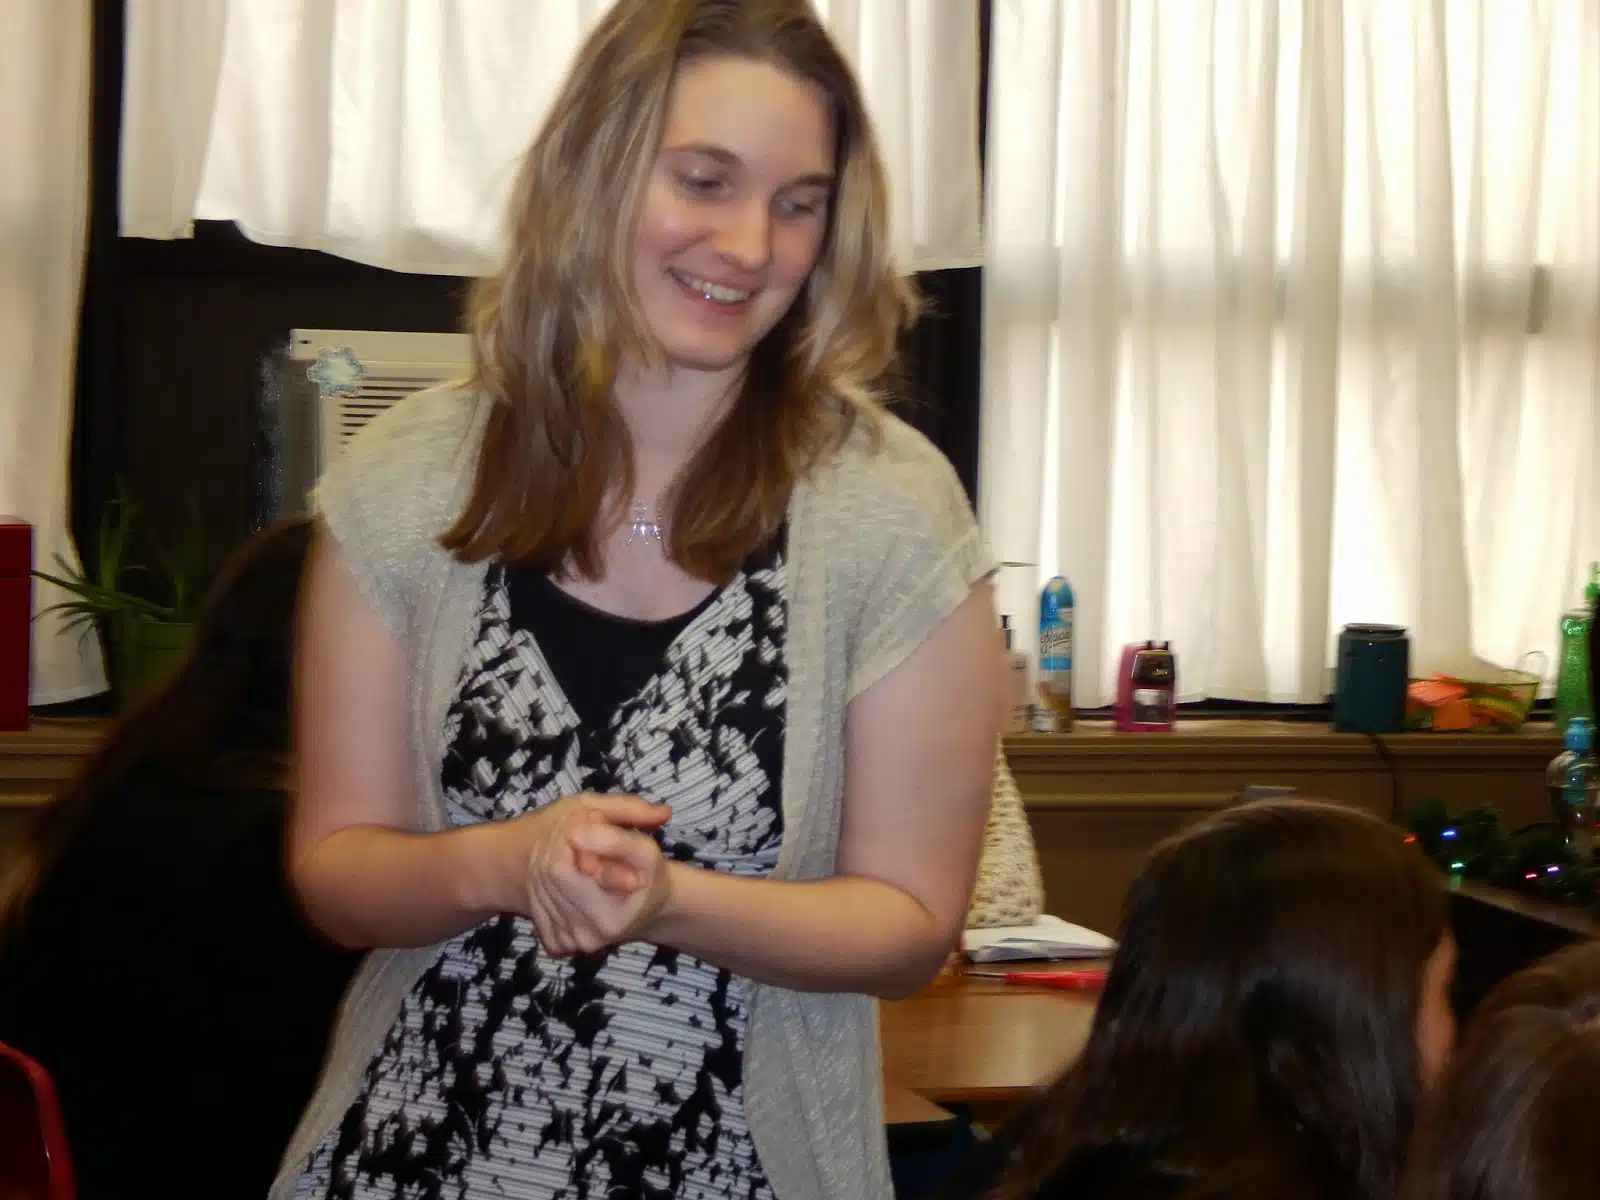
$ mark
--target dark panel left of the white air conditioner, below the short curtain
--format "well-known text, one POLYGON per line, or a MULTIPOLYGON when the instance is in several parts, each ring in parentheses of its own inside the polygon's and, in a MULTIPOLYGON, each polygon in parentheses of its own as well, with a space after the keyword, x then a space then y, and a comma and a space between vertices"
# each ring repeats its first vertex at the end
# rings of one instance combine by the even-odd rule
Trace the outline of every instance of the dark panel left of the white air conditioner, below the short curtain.
POLYGON ((122 477, 155 526, 192 493, 213 560, 227 554, 259 522, 264 355, 296 326, 454 330, 461 286, 254 246, 230 226, 202 229, 194 243, 114 240, 86 302, 80 534, 122 477))

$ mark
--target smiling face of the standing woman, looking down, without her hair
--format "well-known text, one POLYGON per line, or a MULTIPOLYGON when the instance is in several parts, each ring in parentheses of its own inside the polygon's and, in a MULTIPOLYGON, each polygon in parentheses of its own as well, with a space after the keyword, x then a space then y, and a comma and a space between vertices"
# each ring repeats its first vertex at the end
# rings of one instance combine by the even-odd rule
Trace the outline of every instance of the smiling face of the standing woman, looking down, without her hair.
POLYGON ((816 266, 834 170, 816 85, 747 58, 678 69, 634 246, 638 302, 672 366, 744 366, 816 266))

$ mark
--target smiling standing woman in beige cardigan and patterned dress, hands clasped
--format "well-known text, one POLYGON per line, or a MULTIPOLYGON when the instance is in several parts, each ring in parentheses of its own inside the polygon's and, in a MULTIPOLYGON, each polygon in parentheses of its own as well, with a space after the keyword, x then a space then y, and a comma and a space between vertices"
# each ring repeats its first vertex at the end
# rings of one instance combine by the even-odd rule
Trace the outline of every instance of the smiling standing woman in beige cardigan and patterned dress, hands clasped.
POLYGON ((971 510, 805 0, 622 0, 514 189, 475 384, 318 490, 291 872, 378 947, 274 1195, 888 1192, 1000 712, 971 510))

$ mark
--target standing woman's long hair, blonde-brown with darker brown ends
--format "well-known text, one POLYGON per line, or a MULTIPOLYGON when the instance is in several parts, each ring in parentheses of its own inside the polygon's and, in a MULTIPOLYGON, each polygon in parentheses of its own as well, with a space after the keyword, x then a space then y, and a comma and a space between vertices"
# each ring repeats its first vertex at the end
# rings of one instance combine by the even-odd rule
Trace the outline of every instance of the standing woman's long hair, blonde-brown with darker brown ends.
POLYGON ((632 286, 640 198, 674 72, 720 54, 821 88, 837 184, 806 288, 672 485, 667 554, 726 579, 782 522, 818 456, 858 418, 875 419, 915 298, 890 259, 888 186, 850 64, 806 0, 619 0, 523 160, 510 250, 472 299, 474 384, 493 406, 472 494, 442 539, 456 557, 598 574, 598 539, 618 517, 608 506, 626 499, 634 469, 611 386, 624 358, 659 360, 632 286))

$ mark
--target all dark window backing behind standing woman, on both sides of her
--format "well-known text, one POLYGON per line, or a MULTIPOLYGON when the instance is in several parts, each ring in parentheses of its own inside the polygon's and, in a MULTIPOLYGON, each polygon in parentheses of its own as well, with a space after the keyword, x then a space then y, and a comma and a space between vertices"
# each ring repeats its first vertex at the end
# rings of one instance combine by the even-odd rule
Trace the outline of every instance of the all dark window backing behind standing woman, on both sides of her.
MULTIPOLYGON (((94 0, 90 254, 78 346, 74 530, 94 552, 101 507, 126 482, 155 528, 192 494, 218 562, 256 525, 261 360, 293 328, 451 331, 466 282, 256 245, 200 222, 182 242, 117 237, 123 0, 94 0)), ((978 459, 978 270, 920 277, 901 410, 960 472, 978 459)))

